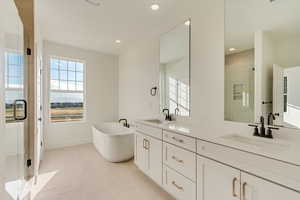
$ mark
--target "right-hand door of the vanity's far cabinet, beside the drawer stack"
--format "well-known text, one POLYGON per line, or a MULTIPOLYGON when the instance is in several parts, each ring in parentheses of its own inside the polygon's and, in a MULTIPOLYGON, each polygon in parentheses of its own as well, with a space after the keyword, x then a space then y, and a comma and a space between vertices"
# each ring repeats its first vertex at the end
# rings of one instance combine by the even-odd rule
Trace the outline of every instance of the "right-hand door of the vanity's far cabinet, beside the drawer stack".
POLYGON ((146 149, 149 152, 148 175, 162 185, 162 141, 147 137, 146 149))

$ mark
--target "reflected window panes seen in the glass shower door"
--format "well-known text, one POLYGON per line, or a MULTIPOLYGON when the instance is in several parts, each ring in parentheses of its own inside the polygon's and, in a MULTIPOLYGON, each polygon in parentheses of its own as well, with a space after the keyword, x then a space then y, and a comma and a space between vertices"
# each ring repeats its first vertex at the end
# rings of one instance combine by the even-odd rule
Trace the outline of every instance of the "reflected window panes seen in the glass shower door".
MULTIPOLYGON (((5 52, 5 117, 7 123, 16 122, 13 117, 13 105, 15 100, 24 98, 23 79, 23 55, 13 51, 5 52)), ((17 115, 19 112, 23 112, 23 107, 17 107, 17 115)))

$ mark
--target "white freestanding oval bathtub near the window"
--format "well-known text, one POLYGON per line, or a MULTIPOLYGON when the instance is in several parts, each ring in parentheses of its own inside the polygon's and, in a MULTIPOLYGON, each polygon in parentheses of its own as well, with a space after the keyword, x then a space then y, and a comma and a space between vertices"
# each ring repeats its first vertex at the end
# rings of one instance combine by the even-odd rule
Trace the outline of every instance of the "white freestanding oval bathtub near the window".
POLYGON ((110 162, 128 161, 134 155, 134 131, 120 123, 107 122, 93 126, 93 143, 110 162))

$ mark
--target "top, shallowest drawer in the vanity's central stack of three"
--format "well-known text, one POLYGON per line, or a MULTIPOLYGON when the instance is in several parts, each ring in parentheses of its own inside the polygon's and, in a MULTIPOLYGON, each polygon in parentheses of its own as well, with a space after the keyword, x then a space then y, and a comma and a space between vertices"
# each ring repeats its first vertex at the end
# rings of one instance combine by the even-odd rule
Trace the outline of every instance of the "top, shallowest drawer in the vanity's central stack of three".
POLYGON ((171 144, 178 145, 190 151, 196 152, 196 139, 179 135, 169 131, 163 131, 163 140, 171 144))

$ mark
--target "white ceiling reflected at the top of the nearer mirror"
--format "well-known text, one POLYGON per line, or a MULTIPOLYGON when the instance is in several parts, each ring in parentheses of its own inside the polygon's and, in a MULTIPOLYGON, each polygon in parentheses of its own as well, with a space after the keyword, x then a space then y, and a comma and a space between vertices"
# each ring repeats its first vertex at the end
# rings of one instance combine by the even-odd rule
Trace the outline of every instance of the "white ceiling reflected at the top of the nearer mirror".
POLYGON ((254 33, 268 31, 273 39, 300 37, 300 0, 226 0, 225 50, 254 47, 254 33))

